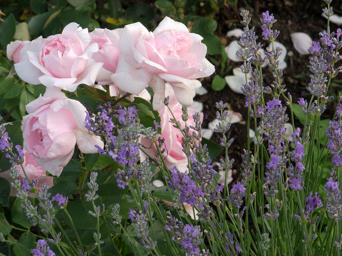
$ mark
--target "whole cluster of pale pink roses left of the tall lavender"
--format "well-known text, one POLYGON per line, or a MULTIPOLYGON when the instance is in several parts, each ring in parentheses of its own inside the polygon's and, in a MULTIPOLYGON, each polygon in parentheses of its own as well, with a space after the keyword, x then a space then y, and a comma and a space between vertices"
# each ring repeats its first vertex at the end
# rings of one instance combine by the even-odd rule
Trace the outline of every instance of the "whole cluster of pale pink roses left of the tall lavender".
MULTIPOLYGON (((180 163, 186 168, 182 136, 169 123, 171 114, 163 101, 170 96, 170 108, 181 117, 181 106, 191 106, 195 89, 201 86, 197 79, 214 72, 201 40, 184 24, 166 17, 153 32, 134 23, 123 29, 89 33, 87 28, 70 23, 61 34, 10 43, 7 55, 15 62, 17 75, 29 84, 47 87, 44 95, 26 105, 28 115, 23 117, 28 178, 39 177, 37 187, 43 182, 51 186, 53 178, 45 176, 46 171, 59 176, 73 156, 75 144, 86 154, 97 153, 95 145, 103 148, 101 138, 84 125, 86 108, 62 91, 74 92, 81 84, 99 89, 106 86, 111 97, 133 95, 146 100, 151 97, 145 88, 152 88, 153 108, 161 116, 162 136, 168 147, 168 166, 180 163)), ((188 113, 193 115, 195 110, 188 113)), ((5 148, 6 143, 2 144, 5 148)), ((23 171, 21 174, 24 178, 23 171)), ((1 176, 7 179, 8 172, 1 176)))

